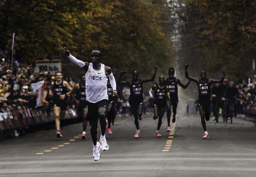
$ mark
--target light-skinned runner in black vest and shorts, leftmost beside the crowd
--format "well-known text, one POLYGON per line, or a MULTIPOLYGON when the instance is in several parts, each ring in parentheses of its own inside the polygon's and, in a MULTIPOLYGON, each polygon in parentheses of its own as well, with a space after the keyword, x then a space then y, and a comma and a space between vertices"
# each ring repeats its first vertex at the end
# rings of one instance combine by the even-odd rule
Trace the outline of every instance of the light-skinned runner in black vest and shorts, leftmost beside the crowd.
POLYGON ((60 121, 59 119, 64 118, 66 114, 66 109, 68 107, 68 95, 70 95, 72 88, 69 86, 69 83, 65 80, 62 80, 62 72, 55 72, 55 81, 51 83, 49 90, 49 95, 53 96, 53 112, 55 115, 55 123, 57 128, 56 136, 58 138, 62 137, 60 133, 60 121), (68 91, 70 90, 70 91, 68 91))

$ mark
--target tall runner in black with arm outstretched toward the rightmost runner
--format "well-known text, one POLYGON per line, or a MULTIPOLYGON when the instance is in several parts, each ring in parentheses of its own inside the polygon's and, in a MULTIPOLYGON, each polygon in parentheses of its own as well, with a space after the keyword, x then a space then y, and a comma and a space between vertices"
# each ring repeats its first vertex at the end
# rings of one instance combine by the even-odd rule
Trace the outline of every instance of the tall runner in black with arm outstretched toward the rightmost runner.
POLYGON ((170 132, 171 131, 171 125, 170 125, 170 121, 171 121, 171 107, 173 107, 173 119, 172 122, 174 123, 176 121, 176 114, 177 114, 177 107, 178 107, 178 84, 183 88, 186 89, 191 80, 188 81, 188 83, 186 85, 182 84, 181 81, 177 78, 174 77, 174 73, 175 73, 175 69, 174 68, 169 68, 168 69, 168 74, 169 77, 166 79, 166 85, 168 87, 169 93, 170 93, 170 99, 166 100, 166 106, 167 106, 167 131, 166 132, 170 132))

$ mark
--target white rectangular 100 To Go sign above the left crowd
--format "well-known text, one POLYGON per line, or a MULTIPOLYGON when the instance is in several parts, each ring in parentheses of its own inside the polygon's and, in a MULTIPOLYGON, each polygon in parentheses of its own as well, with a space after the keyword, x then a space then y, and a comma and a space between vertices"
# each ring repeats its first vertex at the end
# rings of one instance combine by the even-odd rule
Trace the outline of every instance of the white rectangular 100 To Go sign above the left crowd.
POLYGON ((50 75, 55 75, 56 71, 62 71, 61 60, 38 60, 36 61, 36 72, 49 71, 50 75))

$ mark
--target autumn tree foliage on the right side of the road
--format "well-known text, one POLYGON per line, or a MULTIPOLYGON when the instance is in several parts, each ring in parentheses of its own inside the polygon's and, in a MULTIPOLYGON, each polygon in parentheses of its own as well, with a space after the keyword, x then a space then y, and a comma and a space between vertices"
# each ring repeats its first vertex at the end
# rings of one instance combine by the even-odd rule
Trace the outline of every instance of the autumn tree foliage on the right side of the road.
POLYGON ((203 69, 211 73, 211 77, 220 77, 224 69, 229 80, 252 74, 256 47, 256 1, 187 2, 180 11, 184 22, 181 27, 182 67, 190 63, 190 71, 193 69, 193 76, 197 77, 203 69))

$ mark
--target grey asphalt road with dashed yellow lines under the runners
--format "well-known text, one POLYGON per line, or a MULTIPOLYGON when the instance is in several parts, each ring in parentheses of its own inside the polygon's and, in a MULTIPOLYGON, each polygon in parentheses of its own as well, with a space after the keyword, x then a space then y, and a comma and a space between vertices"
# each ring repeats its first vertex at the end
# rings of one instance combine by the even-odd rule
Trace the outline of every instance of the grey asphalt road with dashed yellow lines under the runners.
MULTIPOLYGON (((141 136, 133 138, 132 117, 117 117, 113 135, 106 135, 108 151, 92 159, 90 133, 80 139, 82 123, 39 131, 0 143, 0 176, 197 176, 255 177, 256 127, 236 119, 233 124, 207 122, 209 139, 203 139, 199 116, 179 116, 167 133, 166 115, 160 133, 150 115, 140 121, 141 136)), ((89 128, 88 128, 89 131, 89 128)), ((100 135, 100 133, 98 134, 100 135)))

